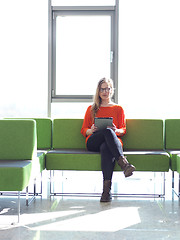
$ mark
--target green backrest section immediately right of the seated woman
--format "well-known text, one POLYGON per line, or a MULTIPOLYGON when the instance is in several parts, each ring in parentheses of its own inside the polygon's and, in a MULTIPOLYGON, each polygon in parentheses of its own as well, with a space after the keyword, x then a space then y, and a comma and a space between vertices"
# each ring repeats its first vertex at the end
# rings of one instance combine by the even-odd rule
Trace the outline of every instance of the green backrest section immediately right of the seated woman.
POLYGON ((124 150, 163 150, 163 120, 127 119, 124 150))

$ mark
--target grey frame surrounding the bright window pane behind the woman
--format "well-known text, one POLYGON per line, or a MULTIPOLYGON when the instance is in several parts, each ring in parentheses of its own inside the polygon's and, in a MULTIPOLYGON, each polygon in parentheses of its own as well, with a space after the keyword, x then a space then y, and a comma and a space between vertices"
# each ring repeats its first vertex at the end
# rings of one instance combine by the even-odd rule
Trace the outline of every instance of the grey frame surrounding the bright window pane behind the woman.
MULTIPOLYGON (((117 1, 118 2, 118 1, 117 1)), ((113 100, 118 102, 118 6, 51 6, 49 0, 49 40, 48 40, 48 115, 51 116, 53 102, 92 102, 93 95, 57 95, 56 94, 56 18, 61 15, 109 15, 111 17, 110 74, 116 89, 113 100)))

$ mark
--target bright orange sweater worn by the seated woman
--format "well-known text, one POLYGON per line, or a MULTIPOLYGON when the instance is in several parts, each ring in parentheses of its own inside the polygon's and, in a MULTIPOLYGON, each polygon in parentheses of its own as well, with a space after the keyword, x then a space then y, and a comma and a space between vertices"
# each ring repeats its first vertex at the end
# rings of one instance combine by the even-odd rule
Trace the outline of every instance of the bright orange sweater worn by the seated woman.
MULTIPOLYGON (((91 107, 89 106, 86 110, 83 125, 81 128, 81 133, 84 137, 86 137, 86 143, 88 138, 91 136, 86 136, 86 131, 91 128, 92 124, 94 123, 94 119, 91 118, 91 107)), ((119 105, 113 105, 110 107, 100 107, 96 117, 113 117, 113 123, 118 129, 123 130, 123 135, 126 133, 126 122, 125 122, 125 115, 124 110, 119 105)), ((118 137, 120 142, 122 143, 122 140, 120 137, 118 137)), ((123 144, 123 143, 122 143, 123 144)))

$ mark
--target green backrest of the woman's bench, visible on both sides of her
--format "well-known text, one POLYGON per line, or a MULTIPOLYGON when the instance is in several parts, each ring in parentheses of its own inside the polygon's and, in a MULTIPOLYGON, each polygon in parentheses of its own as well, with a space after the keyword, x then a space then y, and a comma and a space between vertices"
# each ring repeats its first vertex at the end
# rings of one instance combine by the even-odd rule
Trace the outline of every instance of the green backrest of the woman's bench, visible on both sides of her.
MULTIPOLYGON (((53 149, 85 148, 83 119, 54 119, 53 149)), ((127 119, 124 150, 163 150, 163 120, 127 119)))

